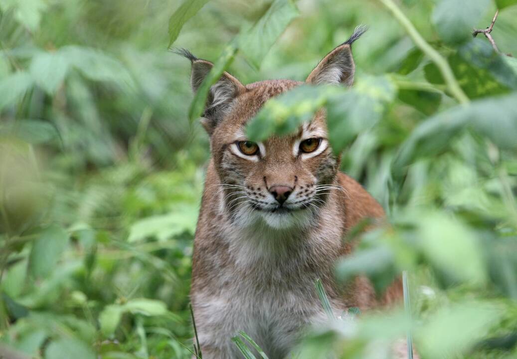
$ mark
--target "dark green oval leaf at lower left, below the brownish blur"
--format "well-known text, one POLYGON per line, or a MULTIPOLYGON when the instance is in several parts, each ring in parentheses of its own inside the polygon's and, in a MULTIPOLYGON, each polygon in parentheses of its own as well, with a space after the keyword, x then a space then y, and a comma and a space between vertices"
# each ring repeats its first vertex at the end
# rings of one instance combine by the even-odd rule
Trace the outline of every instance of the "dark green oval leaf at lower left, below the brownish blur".
POLYGON ((57 264, 68 243, 68 233, 57 225, 43 229, 34 241, 29 255, 29 273, 35 278, 47 277, 57 264))

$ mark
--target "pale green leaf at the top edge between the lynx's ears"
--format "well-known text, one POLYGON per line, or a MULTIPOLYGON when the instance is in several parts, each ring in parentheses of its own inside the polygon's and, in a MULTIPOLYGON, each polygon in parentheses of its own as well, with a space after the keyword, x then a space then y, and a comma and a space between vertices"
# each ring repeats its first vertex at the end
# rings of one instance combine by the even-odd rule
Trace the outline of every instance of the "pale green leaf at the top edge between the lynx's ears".
POLYGON ((257 23, 239 36, 239 48, 259 68, 267 52, 299 12, 292 0, 275 0, 257 23))

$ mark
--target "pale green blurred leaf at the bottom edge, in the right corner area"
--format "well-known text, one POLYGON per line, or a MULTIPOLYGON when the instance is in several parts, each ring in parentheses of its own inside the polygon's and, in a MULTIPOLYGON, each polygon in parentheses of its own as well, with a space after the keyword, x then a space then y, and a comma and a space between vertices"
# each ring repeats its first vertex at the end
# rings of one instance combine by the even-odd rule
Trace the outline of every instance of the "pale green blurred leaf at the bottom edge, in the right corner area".
POLYGON ((417 331, 418 350, 426 357, 455 357, 490 331, 501 316, 497 307, 484 303, 457 303, 440 308, 417 331))

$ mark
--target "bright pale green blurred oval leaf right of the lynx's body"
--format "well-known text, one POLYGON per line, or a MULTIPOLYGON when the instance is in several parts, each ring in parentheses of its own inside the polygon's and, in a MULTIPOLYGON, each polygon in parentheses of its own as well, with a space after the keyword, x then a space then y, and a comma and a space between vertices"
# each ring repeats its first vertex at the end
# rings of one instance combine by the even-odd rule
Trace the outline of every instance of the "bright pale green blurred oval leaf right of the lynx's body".
POLYGON ((479 238, 459 221, 445 215, 426 215, 418 238, 424 256, 439 275, 445 275, 446 284, 486 280, 479 238))

